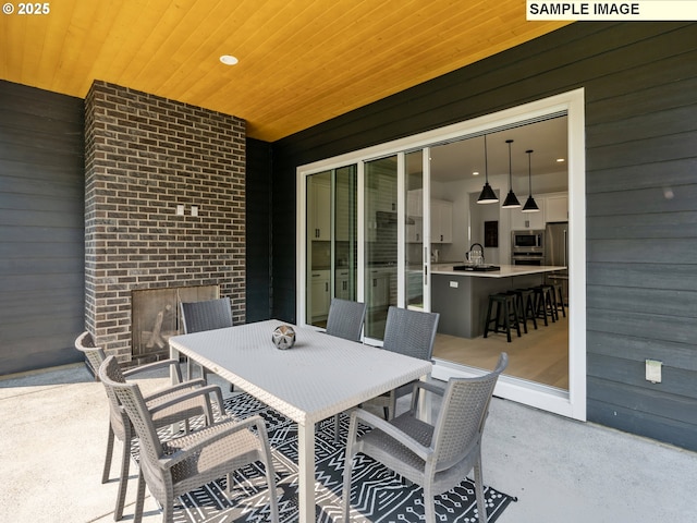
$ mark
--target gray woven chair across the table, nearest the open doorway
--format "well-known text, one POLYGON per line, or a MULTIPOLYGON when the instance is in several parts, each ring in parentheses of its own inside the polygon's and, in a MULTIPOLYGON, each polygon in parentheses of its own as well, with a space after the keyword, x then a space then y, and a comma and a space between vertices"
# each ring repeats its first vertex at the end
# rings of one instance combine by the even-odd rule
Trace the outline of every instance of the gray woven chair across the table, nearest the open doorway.
MULTIPOLYGON (((439 318, 438 313, 391 306, 388 309, 382 349, 430 362, 439 318)), ((394 416, 398 398, 411 392, 412 384, 406 384, 387 394, 371 399, 366 402, 366 405, 382 406, 384 418, 390 419, 394 416)))

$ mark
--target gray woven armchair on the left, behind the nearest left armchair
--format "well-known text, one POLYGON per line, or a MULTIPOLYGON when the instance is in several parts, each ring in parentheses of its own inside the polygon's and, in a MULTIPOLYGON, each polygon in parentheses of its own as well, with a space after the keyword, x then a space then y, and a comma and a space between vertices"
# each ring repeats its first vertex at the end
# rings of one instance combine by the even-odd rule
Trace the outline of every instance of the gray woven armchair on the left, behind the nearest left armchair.
MULTIPOLYGON (((95 346, 94 340, 89 332, 83 332, 75 340, 75 349, 85 354, 89 366, 95 370, 95 377, 98 377, 99 367, 107 358, 105 351, 100 346, 95 346)), ((166 411, 156 416, 158 427, 167 426, 172 423, 184 422, 185 429, 188 431, 188 418, 192 416, 206 415, 208 423, 212 423, 213 414, 210 405, 209 394, 215 393, 218 400, 218 408, 221 413, 224 412, 222 404, 222 392, 219 387, 206 386, 203 379, 195 379, 182 382, 182 374, 179 362, 176 360, 162 360, 148 365, 142 365, 129 370, 122 370, 121 377, 125 381, 126 378, 135 378, 138 375, 160 368, 170 368, 175 377, 176 385, 166 387, 159 391, 149 394, 146 398, 148 406, 155 406, 178 400, 166 411)), ((118 438, 123 442, 123 454, 121 457, 121 474, 119 476, 119 491, 117 495, 117 506, 114 509, 114 520, 123 516, 123 506, 126 497, 126 487, 129 482, 129 469, 131 465, 131 447, 133 441, 133 427, 127 416, 122 411, 110 409, 109 415, 109 436, 107 438, 107 455, 105 458, 105 466, 101 473, 101 483, 109 481, 111 471, 111 460, 113 458, 113 442, 118 438)))

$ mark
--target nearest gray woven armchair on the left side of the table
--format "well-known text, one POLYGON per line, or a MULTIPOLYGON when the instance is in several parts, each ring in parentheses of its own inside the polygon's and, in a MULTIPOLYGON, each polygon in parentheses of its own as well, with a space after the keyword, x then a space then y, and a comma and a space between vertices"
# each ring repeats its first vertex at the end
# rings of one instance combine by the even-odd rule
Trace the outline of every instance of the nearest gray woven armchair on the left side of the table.
POLYGON ((162 506, 162 521, 172 522, 174 498, 195 488, 228 476, 232 488, 232 472, 250 463, 262 462, 270 496, 271 521, 278 522, 278 501, 271 450, 260 416, 242 422, 224 419, 185 436, 160 441, 155 418, 171 405, 150 408, 135 384, 121 381, 121 369, 113 356, 99 367, 99 378, 107 388, 114 409, 123 410, 135 427, 140 442, 140 472, 134 521, 143 520, 145 486, 162 506), (249 430, 254 427, 256 435, 249 430))

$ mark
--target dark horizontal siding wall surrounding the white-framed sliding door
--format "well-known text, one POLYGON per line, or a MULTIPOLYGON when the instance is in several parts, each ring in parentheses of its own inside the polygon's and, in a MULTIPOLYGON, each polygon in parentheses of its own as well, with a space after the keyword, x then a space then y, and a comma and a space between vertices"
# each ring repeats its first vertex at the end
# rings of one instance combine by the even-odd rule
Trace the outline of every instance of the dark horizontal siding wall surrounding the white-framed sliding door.
POLYGON ((697 450, 697 24, 575 23, 274 144, 273 315, 295 168, 584 87, 588 417, 697 450), (663 382, 644 360, 664 363, 663 382))

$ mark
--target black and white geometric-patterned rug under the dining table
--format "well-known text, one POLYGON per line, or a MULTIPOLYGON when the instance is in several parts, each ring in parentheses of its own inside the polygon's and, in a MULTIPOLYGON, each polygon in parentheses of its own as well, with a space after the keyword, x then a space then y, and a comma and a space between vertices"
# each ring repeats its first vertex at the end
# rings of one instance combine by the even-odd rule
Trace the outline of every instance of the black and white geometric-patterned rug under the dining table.
MULTIPOLYGON (((246 393, 225 400, 228 414, 244 418, 259 414, 266 421, 277 474, 281 523, 298 522, 297 511, 297 430, 296 424, 246 393)), ((341 491, 348 417, 342 415, 339 443, 334 443, 333 418, 317 428, 316 453, 316 521, 339 523, 341 491)), ((366 427, 367 429, 367 427, 366 427)), ((134 445, 137 457, 137 445, 134 445)), ((355 458, 351 522, 418 523, 425 520, 423 489, 406 485, 401 477, 372 459, 355 458)), ((264 466, 249 465, 233 474, 232 494, 227 479, 221 478, 182 496, 174 502, 176 523, 247 523, 268 522, 268 489, 264 466)), ((497 521, 511 501, 516 499, 485 486, 489 522, 497 521)), ((477 519, 474 484, 464 479, 457 487, 436 497, 439 522, 475 523, 477 519)))

